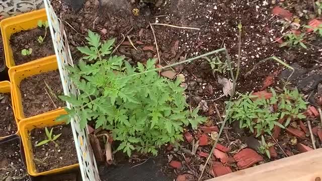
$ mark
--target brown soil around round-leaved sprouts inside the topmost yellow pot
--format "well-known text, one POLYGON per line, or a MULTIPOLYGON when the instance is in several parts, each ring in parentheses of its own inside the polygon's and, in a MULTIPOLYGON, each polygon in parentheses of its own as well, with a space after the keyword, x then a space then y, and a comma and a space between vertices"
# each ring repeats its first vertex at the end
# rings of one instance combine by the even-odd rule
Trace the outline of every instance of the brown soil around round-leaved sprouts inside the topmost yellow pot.
POLYGON ((45 40, 42 43, 37 41, 39 36, 44 37, 45 32, 44 28, 36 28, 15 33, 10 37, 10 46, 14 53, 16 65, 21 65, 32 60, 55 54, 48 28, 45 40), (24 56, 21 54, 21 50, 29 48, 32 48, 30 56, 24 56))

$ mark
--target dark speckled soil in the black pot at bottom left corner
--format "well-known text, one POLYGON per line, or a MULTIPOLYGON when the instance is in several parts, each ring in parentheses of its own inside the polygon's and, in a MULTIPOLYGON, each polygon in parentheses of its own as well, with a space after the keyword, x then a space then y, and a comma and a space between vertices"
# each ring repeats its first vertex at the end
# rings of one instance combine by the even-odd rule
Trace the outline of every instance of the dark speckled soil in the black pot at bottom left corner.
POLYGON ((29 181, 18 139, 0 145, 0 158, 0 180, 29 181))

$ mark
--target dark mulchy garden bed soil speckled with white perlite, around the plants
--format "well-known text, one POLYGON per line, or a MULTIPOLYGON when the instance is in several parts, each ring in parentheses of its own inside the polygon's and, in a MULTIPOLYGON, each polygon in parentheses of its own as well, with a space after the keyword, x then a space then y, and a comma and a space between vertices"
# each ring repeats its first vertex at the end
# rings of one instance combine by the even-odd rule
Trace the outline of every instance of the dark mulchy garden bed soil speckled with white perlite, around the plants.
MULTIPOLYGON (((106 1, 103 1, 106 2, 106 1)), ((110 1, 115 2, 115 1, 110 1)), ((76 50, 77 46, 86 44, 85 37, 87 31, 92 30, 99 33, 102 39, 116 38, 115 46, 121 44, 116 51, 118 55, 125 55, 132 63, 137 61, 144 62, 148 58, 156 57, 156 47, 150 23, 164 23, 176 26, 200 28, 200 30, 176 29, 166 26, 153 26, 156 41, 160 50, 160 61, 163 66, 176 63, 187 58, 192 58, 216 49, 226 47, 230 58, 234 61, 236 67, 238 57, 238 23, 243 25, 241 32, 241 55, 240 55, 240 74, 236 91, 238 93, 249 93, 259 91, 263 87, 263 81, 268 76, 276 76, 281 69, 285 67, 277 64, 273 60, 262 63, 249 76, 245 74, 250 71, 259 61, 277 56, 288 64, 298 63, 306 68, 319 66, 315 61, 322 60, 322 41, 317 39, 314 34, 308 34, 306 43, 307 49, 294 47, 279 48, 279 44, 275 42, 275 38, 281 37, 286 33, 287 28, 283 27, 286 23, 282 18, 272 16, 271 10, 275 6, 286 8, 294 17, 299 17, 300 24, 306 25, 310 19, 313 19, 311 2, 286 0, 286 1, 245 1, 245 0, 218 0, 216 2, 210 0, 200 1, 184 1, 184 0, 164 0, 159 7, 151 8, 151 15, 143 17, 144 10, 141 15, 133 16, 132 9, 137 8, 136 4, 129 4, 129 1, 116 1, 115 6, 99 7, 99 1, 87 0, 83 9, 73 13, 68 7, 60 4, 58 1, 52 1, 55 11, 60 18, 68 22, 65 25, 67 37, 70 44, 72 57, 78 60, 82 54, 76 50), (248 3, 249 2, 249 3, 248 3), (117 4, 118 3, 118 4, 117 4), (119 5, 123 6, 119 6, 119 5), (306 13, 303 13, 305 11, 306 13), (304 14, 304 15, 303 15, 304 14), (158 16, 158 17, 157 17, 158 16), (309 17, 309 18, 307 18, 309 17), (128 35, 138 50, 135 50, 123 35, 128 35), (152 50, 150 47, 153 47, 152 50)), ((305 29, 301 29, 305 32, 305 29)), ((224 57, 220 53, 221 57, 224 57)), ((221 59, 224 61, 225 59, 221 59)), ((217 81, 217 75, 229 78, 229 75, 212 74, 209 64, 204 60, 196 60, 190 64, 184 64, 175 67, 177 73, 185 75, 188 84, 187 95, 191 99, 187 102, 193 107, 198 105, 201 100, 205 100, 209 106, 209 112, 202 113, 208 116, 209 124, 216 125, 220 120, 215 114, 213 104, 218 105, 220 113, 224 109, 224 101, 228 98, 219 98, 222 92, 222 85, 217 81)), ((280 86, 282 82, 275 81, 273 86, 280 86)), ((191 131, 197 138, 200 131, 191 131)), ((235 133, 232 126, 225 129, 226 135, 222 134, 219 143, 224 146, 231 145, 231 150, 237 150, 243 147, 247 141, 239 141, 240 137, 235 133)), ((247 134, 247 136, 251 136, 247 134)), ((280 145, 283 149, 289 150, 294 154, 298 151, 296 147, 289 144, 290 136, 282 131, 280 145)), ((316 138, 318 139, 318 138, 316 138)), ((267 141, 273 142, 270 137, 267 141)), ((309 137, 298 140, 299 142, 311 146, 309 137)), ((211 145, 211 144, 209 144, 211 145)), ((249 145, 249 147, 251 147, 249 145)), ((275 145, 278 152, 278 158, 284 157, 283 152, 275 145)), ((191 144, 183 143, 179 151, 172 151, 172 155, 176 160, 182 161, 184 169, 176 170, 176 174, 190 173, 195 179, 199 177, 200 165, 204 164, 205 158, 198 155, 192 156, 190 150, 191 144), (185 155, 183 157, 182 155, 185 155), (189 157, 190 161, 185 158, 189 157)), ((210 146, 198 148, 199 151, 209 152, 210 146)), ((168 153, 167 153, 168 154, 168 153)), ((232 156, 233 154, 228 154, 232 156)), ((264 162, 268 162, 265 155, 264 162)), ((272 159, 274 160, 274 159, 272 159)), ((261 163, 264 163, 261 162, 261 163)), ((260 164, 261 164, 260 163, 260 164)), ((239 168, 235 163, 229 165, 233 171, 239 168)), ((172 172, 173 168, 167 168, 165 172, 172 172)), ((212 178, 209 168, 206 169, 202 180, 212 178)))

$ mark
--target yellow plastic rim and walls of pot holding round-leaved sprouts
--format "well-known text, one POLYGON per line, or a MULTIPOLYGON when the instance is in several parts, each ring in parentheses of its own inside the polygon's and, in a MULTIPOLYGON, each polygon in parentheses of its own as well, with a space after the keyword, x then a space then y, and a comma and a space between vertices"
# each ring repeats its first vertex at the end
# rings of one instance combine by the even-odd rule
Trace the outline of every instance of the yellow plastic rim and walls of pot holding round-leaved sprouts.
POLYGON ((16 65, 12 48, 10 46, 11 35, 20 31, 26 31, 37 28, 37 23, 39 20, 47 21, 45 9, 6 18, 0 22, 1 33, 4 42, 6 65, 8 68, 11 68, 16 65))

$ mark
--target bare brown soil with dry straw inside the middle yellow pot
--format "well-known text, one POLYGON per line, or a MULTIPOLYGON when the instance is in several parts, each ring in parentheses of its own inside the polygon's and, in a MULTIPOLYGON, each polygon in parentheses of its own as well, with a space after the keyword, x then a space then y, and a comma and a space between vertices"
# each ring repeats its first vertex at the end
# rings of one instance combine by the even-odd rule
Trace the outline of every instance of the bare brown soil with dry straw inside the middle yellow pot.
POLYGON ((65 102, 58 98, 63 94, 58 70, 27 77, 21 81, 20 89, 26 118, 65 106, 65 102))

